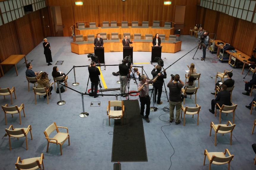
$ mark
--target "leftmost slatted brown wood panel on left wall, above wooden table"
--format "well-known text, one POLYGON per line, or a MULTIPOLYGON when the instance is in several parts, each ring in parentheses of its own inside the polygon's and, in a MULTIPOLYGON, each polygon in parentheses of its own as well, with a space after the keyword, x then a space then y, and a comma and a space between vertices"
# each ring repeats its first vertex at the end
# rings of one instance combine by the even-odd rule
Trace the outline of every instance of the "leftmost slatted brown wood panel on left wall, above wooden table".
MULTIPOLYGON (((1 25, 0 32, 1 32, 0 39, 2 42, 0 46, 0 54, 1 54, 0 62, 7 59, 10 55, 21 54, 14 21, 1 25)), ((2 67, 5 73, 7 72, 7 70, 9 70, 13 66, 2 66, 2 67)), ((0 77, 1 76, 2 75, 0 72, 0 77)))

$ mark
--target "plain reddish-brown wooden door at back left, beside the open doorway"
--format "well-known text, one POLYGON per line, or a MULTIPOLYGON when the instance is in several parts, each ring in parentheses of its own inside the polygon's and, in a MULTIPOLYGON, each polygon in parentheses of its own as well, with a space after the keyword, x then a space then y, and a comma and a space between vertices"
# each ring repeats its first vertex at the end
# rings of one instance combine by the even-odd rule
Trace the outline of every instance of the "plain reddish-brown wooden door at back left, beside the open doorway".
POLYGON ((63 25, 63 36, 72 35, 71 26, 75 23, 74 12, 72 6, 61 6, 61 20, 63 25))

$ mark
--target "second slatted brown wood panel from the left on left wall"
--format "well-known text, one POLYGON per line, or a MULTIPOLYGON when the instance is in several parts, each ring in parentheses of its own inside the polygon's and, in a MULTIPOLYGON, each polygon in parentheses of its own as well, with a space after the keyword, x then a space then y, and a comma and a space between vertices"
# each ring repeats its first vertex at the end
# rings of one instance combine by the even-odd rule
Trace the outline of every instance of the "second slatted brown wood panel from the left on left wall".
POLYGON ((14 22, 20 44, 20 52, 25 55, 29 54, 35 48, 29 15, 25 15, 14 22))

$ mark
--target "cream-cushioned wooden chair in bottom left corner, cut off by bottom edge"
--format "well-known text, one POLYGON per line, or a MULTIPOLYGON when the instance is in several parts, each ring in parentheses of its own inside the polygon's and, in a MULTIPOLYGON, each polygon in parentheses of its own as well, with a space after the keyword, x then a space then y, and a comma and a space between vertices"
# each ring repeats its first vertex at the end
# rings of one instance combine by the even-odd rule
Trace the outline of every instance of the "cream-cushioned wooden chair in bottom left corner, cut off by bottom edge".
POLYGON ((15 168, 17 168, 17 170, 33 170, 33 169, 40 169, 42 170, 41 165, 43 166, 43 169, 45 169, 44 167, 44 163, 43 163, 43 159, 44 159, 44 154, 41 153, 40 157, 34 157, 34 158, 28 158, 28 159, 23 159, 21 160, 20 156, 17 159, 17 162, 15 163, 15 168))

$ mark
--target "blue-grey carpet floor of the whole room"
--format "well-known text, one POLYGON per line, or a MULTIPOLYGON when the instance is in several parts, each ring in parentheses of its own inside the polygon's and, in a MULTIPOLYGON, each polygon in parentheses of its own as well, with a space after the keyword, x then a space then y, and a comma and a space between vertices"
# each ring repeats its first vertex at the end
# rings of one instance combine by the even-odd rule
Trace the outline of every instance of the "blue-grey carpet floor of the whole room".
MULTIPOLYGON (((26 57, 28 60, 33 60, 33 71, 45 71, 49 74, 49 78, 52 79, 51 72, 54 64, 57 61, 64 61, 62 65, 58 65, 59 71, 68 73, 68 86, 74 90, 68 89, 65 93, 61 93, 62 100, 66 101, 66 104, 58 106, 57 102, 60 100, 59 94, 52 92, 49 104, 46 99, 37 97, 37 105, 34 103, 34 93, 32 90, 28 92, 28 83, 25 77, 26 67, 23 61, 17 64, 19 76, 16 76, 15 69, 11 68, 4 77, 0 78, 0 87, 12 87, 15 86, 17 99, 13 99, 14 105, 20 105, 24 103, 26 117, 21 117, 22 125, 19 124, 18 115, 14 115, 12 118, 7 115, 7 125, 4 121, 4 113, 1 111, 0 116, 0 136, 5 134, 5 128, 8 128, 11 124, 14 127, 27 127, 29 124, 32 126, 33 140, 28 138, 29 149, 26 150, 26 142, 24 139, 12 140, 12 150, 9 150, 8 139, 4 138, 0 140, 0 169, 10 170, 15 169, 15 162, 18 156, 22 159, 29 157, 39 156, 44 153, 45 169, 59 170, 59 169, 113 169, 113 162, 111 162, 112 141, 113 136, 108 132, 113 132, 114 120, 111 120, 111 125, 108 125, 108 116, 106 114, 106 108, 108 100, 115 100, 115 96, 99 96, 93 98, 88 95, 84 95, 84 108, 89 113, 87 118, 80 118, 79 114, 83 112, 82 96, 78 92, 84 93, 87 89, 88 83, 88 69, 87 67, 75 67, 75 76, 73 66, 88 66, 90 64, 87 54, 78 55, 71 52, 70 37, 48 37, 48 41, 51 44, 53 65, 47 66, 45 62, 45 56, 43 54, 42 44, 39 44, 34 50, 32 50, 26 57), (72 86, 72 83, 79 82, 80 85, 72 86), (76 90, 76 91, 75 91, 76 90), (47 141, 43 134, 44 130, 53 122, 56 122, 58 126, 65 126, 69 128, 70 134, 70 146, 68 143, 64 143, 60 156, 59 146, 50 144, 49 152, 46 153, 47 141)), ((194 63, 198 73, 201 73, 200 88, 197 92, 197 104, 201 106, 199 115, 199 125, 196 124, 196 118, 186 116, 186 125, 168 123, 169 114, 165 112, 168 108, 168 102, 166 93, 162 93, 161 100, 163 103, 158 107, 158 111, 151 112, 149 115, 150 123, 143 120, 146 149, 148 162, 122 162, 121 167, 123 170, 146 170, 146 169, 208 169, 208 161, 203 166, 203 153, 207 149, 209 152, 224 151, 225 148, 230 150, 231 154, 234 154, 234 159, 231 162, 230 169, 255 169, 253 165, 253 158, 255 153, 252 150, 251 145, 255 143, 255 135, 251 134, 252 125, 256 119, 256 111, 249 114, 249 109, 245 108, 245 105, 249 105, 252 101, 255 91, 252 97, 242 95, 244 92, 243 80, 251 80, 252 74, 245 76, 248 69, 241 74, 241 68, 233 69, 227 63, 221 63, 218 61, 216 54, 211 54, 207 51, 206 61, 200 61, 198 59, 202 56, 202 51, 198 50, 195 54, 197 46, 197 40, 195 37, 189 35, 181 36, 182 46, 181 51, 170 54, 162 53, 162 59, 164 61, 164 67, 167 69, 167 79, 165 85, 170 80, 170 74, 179 74, 181 80, 185 81, 185 70, 187 65, 194 63), (192 50, 192 51, 191 51, 192 50), (191 52, 189 52, 191 51, 191 52), (189 53, 188 53, 189 52, 189 53), (186 55, 185 55, 186 54, 186 55), (195 54, 195 60, 192 57, 195 54), (184 56, 185 55, 185 56, 184 56), (217 136, 217 146, 214 146, 214 135, 209 137, 210 123, 219 122, 219 114, 214 117, 208 109, 210 109, 211 100, 214 95, 210 94, 214 92, 215 76, 217 72, 223 72, 225 69, 233 69, 233 79, 235 80, 235 89, 233 90, 232 102, 238 104, 235 114, 236 128, 233 131, 232 145, 230 145, 230 135, 217 136)), ((133 46, 136 45, 136 42, 133 46)), ((164 48, 164 47, 163 47, 164 48)), ((122 60, 122 52, 110 52, 105 53, 105 64, 120 64, 122 60)), ((143 66, 144 73, 149 78, 151 76, 151 70, 154 68, 151 64, 136 64, 136 63, 149 63, 151 58, 151 52, 134 52, 134 67, 143 66)), ((153 63, 156 64, 156 63, 153 63)), ((113 76, 112 72, 118 71, 118 66, 101 67, 102 76, 105 80, 102 88, 118 88, 118 77, 113 76)), ((141 69, 139 69, 141 72, 141 69)), ((53 79, 52 79, 53 80, 53 79)), ((197 83, 197 82, 196 82, 197 83)), ((32 85, 30 85, 32 88, 32 85)), ((90 82, 89 82, 89 87, 90 82)), ((137 85, 131 81, 129 90, 137 90, 137 85)), ((165 88, 163 88, 165 91, 165 88)), ((166 89, 167 95, 169 90, 166 89)), ((108 91, 104 94, 119 94, 119 91, 108 91)), ((130 99, 138 99, 138 96, 130 96, 130 99)), ((123 97, 118 97, 118 100, 126 100, 123 97)), ((1 105, 6 103, 10 104, 10 96, 6 97, 6 100, 0 97, 1 105)), ((186 99, 186 106, 195 106, 195 99, 186 99)), ((151 99, 151 106, 152 99, 151 99)), ((222 123, 227 123, 228 120, 232 120, 232 116, 222 115, 222 123)), ((213 165, 212 169, 227 169, 227 165, 213 165)))

